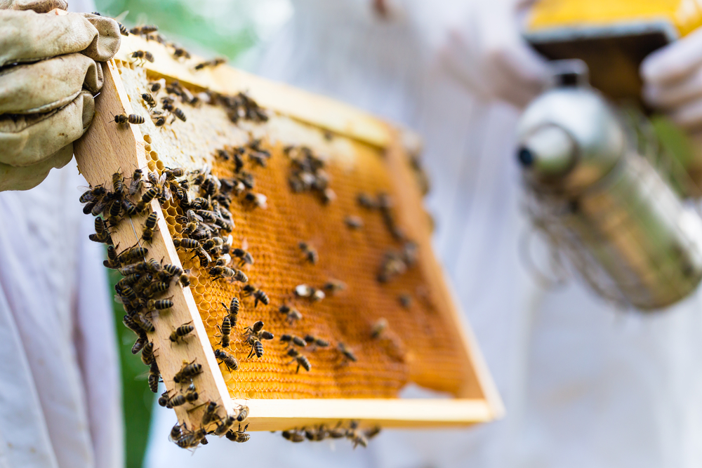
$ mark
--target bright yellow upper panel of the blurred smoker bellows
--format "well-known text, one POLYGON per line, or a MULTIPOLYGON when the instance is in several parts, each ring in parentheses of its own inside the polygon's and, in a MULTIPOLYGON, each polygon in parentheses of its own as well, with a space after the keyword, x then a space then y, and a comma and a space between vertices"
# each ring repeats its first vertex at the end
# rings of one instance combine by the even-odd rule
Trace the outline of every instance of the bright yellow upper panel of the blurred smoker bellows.
POLYGON ((661 21, 684 36, 702 25, 702 6, 695 0, 541 0, 530 11, 527 31, 661 21))

